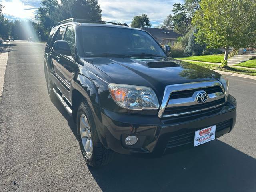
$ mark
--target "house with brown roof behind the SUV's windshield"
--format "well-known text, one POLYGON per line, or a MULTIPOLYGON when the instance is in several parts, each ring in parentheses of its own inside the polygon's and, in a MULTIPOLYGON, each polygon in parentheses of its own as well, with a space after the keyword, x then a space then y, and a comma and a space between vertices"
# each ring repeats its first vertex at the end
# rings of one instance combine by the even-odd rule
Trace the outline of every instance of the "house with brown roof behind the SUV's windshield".
POLYGON ((140 29, 149 32, 154 38, 163 45, 170 44, 173 46, 178 37, 182 36, 170 29, 158 29, 150 27, 141 27, 140 29))

